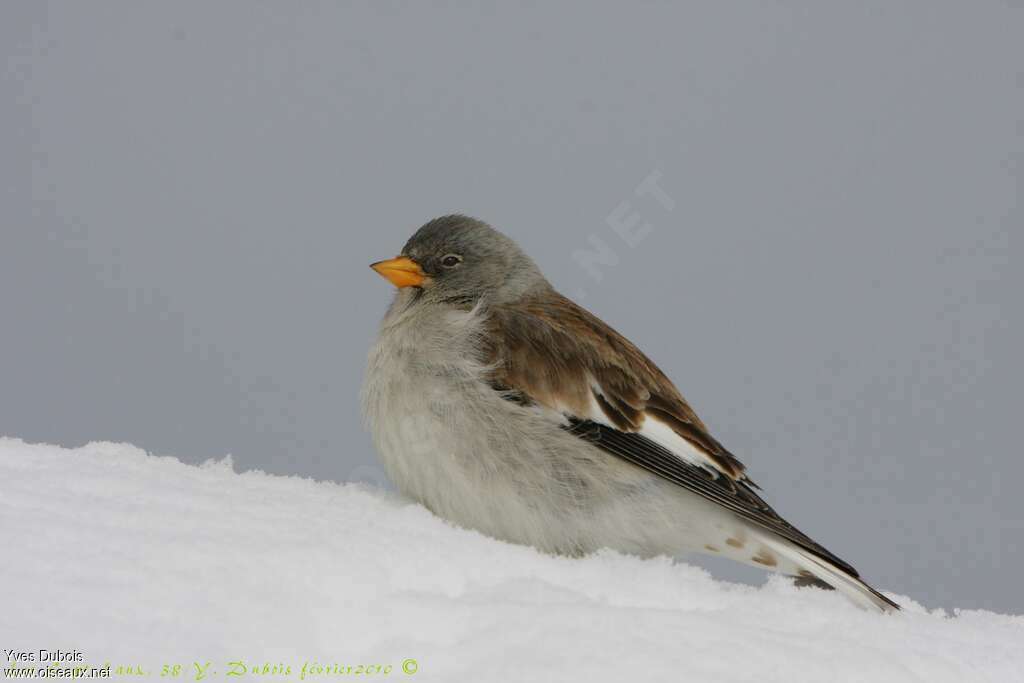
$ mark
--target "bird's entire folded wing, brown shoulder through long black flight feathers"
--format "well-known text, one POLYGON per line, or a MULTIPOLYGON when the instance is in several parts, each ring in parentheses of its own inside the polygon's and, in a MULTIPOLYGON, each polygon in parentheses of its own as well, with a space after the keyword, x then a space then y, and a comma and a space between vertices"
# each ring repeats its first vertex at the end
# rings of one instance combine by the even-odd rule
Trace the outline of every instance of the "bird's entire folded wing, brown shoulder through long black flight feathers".
POLYGON ((565 429, 815 555, 857 571, 779 516, 660 370, 599 318, 563 297, 492 309, 493 383, 506 397, 565 415, 565 429), (594 415, 596 403, 601 412, 594 415), (658 420, 708 457, 694 464, 642 433, 658 420), (722 476, 722 475, 726 476, 722 476))

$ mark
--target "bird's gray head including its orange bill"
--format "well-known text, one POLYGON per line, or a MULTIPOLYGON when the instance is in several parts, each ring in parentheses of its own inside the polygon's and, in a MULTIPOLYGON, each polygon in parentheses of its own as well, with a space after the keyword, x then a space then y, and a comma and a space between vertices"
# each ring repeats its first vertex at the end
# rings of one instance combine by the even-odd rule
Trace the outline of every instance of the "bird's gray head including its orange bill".
POLYGON ((424 303, 512 301, 550 287, 512 240, 468 216, 435 218, 413 234, 401 255, 373 267, 424 303))

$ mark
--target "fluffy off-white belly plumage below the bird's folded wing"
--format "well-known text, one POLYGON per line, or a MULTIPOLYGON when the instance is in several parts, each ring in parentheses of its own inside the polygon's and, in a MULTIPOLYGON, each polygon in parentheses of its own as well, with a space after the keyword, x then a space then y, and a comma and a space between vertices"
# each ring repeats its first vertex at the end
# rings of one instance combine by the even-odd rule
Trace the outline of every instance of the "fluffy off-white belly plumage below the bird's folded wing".
POLYGON ((738 520, 620 461, 486 384, 371 365, 365 404, 389 478, 438 516, 552 553, 709 552, 738 520), (468 396, 468 399, 466 398, 468 396))

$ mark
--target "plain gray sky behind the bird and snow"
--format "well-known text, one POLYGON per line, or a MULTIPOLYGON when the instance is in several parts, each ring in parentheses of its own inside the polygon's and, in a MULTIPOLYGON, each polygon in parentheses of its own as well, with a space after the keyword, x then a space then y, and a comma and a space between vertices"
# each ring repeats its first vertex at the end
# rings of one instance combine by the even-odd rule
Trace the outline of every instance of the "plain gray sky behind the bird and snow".
POLYGON ((1024 612, 1020 9, 399 7, 0 5, 0 433, 379 480, 367 264, 462 211, 872 583, 1024 612))

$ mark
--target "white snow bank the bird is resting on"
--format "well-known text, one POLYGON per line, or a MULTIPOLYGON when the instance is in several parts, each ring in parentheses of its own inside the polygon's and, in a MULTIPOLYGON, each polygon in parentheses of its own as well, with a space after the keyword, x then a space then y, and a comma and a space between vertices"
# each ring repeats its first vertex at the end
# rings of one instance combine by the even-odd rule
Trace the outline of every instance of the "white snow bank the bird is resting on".
POLYGON ((902 596, 887 616, 667 558, 552 557, 365 485, 229 459, 0 439, 0 647, 154 678, 209 663, 203 680, 1024 680, 1022 616, 902 596))

